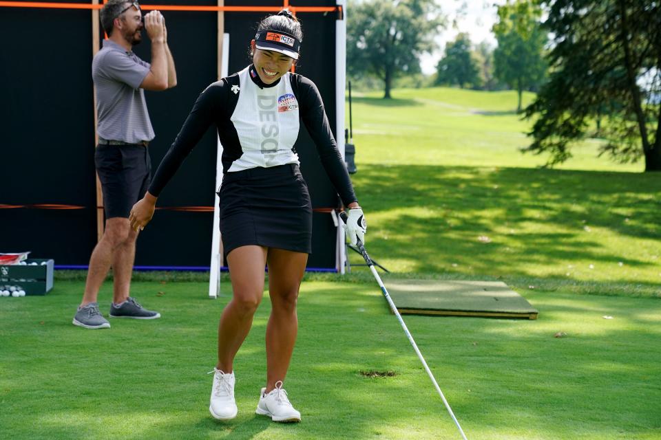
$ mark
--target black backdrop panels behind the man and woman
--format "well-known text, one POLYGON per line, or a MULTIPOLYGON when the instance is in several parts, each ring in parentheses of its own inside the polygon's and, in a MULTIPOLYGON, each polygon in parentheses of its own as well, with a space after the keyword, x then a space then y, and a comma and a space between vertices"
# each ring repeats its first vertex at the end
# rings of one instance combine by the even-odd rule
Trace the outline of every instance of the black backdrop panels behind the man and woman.
MULTIPOLYGON (((65 1, 59 1, 65 3, 65 1)), ((143 1, 147 4, 216 5, 215 0, 143 1)), ((330 0, 291 1, 334 6, 330 0)), ((226 0, 225 5, 280 6, 280 0, 226 0)), ((147 91, 156 138, 149 149, 154 170, 178 133, 198 94, 217 77, 216 12, 163 12, 178 86, 147 91)), ((229 72, 249 63, 249 42, 265 13, 225 12, 230 34, 229 72)), ((297 73, 311 78, 324 98, 335 133, 335 20, 337 14, 300 13, 304 29, 297 73)), ((56 265, 87 265, 96 243, 94 98, 91 78, 92 13, 89 10, 0 8, 0 204, 58 203, 83 209, 0 209, 0 252, 31 250, 56 265), (55 24, 56 23, 56 24, 55 24), (50 30, 58 30, 58 39, 50 30)), ((149 61, 149 39, 135 47, 149 61)), ((337 133, 335 133, 337 135, 337 133)), ((159 198, 159 206, 212 206, 216 190, 215 127, 189 155, 159 198)), ((338 199, 302 129, 295 148, 313 208, 338 199)), ((140 234, 136 265, 209 266, 213 214, 159 210, 140 234)), ((335 267, 335 228, 330 214, 314 214, 308 267, 335 267)))

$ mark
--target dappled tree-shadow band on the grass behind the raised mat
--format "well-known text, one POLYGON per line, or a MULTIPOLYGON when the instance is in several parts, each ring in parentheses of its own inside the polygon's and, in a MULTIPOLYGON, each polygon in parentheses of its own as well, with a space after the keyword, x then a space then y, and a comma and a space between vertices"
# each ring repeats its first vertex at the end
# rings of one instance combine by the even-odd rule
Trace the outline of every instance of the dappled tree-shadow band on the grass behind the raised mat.
POLYGON ((661 182, 655 175, 363 164, 352 179, 361 205, 383 218, 373 229, 370 254, 413 261, 412 272, 469 267, 477 274, 530 276, 530 265, 562 273, 571 265, 588 270, 587 263, 658 266, 628 249, 628 256, 613 254, 598 232, 657 239, 661 182))

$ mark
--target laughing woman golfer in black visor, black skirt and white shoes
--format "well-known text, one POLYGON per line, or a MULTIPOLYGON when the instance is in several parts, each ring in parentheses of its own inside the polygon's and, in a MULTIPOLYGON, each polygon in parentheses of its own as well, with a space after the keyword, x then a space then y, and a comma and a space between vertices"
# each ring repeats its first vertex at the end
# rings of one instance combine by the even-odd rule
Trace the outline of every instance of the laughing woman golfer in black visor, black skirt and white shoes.
POLYGON ((293 150, 301 121, 348 208, 350 241, 363 241, 366 232, 319 91, 308 78, 290 72, 302 37, 300 23, 288 10, 261 21, 251 41, 253 63, 200 94, 129 217, 134 230, 149 223, 160 191, 209 125, 216 124, 223 146, 220 231, 233 289, 218 325, 209 406, 216 419, 232 419, 237 413, 233 360, 262 300, 265 265, 272 311, 266 326, 266 387, 256 412, 273 421, 301 419, 282 388, 298 328, 296 300, 312 250, 312 205, 293 150))

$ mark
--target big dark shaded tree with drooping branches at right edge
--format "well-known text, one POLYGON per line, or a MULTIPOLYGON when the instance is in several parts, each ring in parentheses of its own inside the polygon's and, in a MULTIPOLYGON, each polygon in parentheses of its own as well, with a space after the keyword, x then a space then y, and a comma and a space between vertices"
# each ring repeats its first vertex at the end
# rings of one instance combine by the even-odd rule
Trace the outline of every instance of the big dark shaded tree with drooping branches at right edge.
POLYGON ((571 142, 601 122, 602 153, 661 170, 661 4, 640 0, 545 0, 554 35, 552 73, 526 109, 536 118, 526 151, 571 157, 571 142), (602 119, 605 120, 602 121, 602 119))

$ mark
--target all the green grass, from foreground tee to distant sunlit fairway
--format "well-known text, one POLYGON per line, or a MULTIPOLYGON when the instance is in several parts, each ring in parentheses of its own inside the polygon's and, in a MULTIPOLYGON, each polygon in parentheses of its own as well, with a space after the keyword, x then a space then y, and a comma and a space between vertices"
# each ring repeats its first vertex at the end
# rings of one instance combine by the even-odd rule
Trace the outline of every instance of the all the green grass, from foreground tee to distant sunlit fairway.
MULTIPOLYGON (((368 251, 394 272, 386 285, 497 279, 539 311, 404 317, 468 439, 661 439, 658 176, 596 159, 596 141, 538 169, 545 158, 518 152, 529 122, 511 92, 379 96, 354 101, 352 179, 368 251)), ((286 382, 295 425, 254 414, 268 296, 235 361, 239 415, 220 422, 206 373, 227 276, 218 300, 204 275, 138 280, 134 296, 162 318, 103 331, 71 325, 81 274, 59 274, 45 297, 0 298, 0 439, 461 438, 364 267, 302 285, 286 382)))

